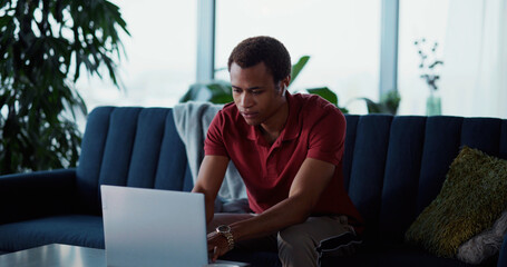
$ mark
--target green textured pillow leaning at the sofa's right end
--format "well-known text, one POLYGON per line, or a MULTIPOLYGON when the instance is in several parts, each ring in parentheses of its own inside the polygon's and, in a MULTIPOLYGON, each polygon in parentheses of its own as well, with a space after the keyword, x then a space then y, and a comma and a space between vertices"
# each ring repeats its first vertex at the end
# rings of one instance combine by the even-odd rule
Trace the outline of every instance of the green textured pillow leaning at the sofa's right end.
POLYGON ((406 240, 454 257, 459 245, 493 226, 506 204, 507 160, 465 146, 440 194, 407 230, 406 240))

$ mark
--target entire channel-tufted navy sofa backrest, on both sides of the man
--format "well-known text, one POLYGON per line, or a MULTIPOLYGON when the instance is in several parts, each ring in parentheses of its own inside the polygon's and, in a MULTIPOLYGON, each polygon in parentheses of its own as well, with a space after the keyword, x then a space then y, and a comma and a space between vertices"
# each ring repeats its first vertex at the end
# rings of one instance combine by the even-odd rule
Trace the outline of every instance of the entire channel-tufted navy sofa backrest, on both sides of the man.
MULTIPOLYGON (((368 241, 397 244, 439 194, 461 146, 507 158, 507 120, 347 115, 345 188, 368 241)), ((196 118, 197 119, 197 118, 196 118)), ((100 214, 99 185, 191 190, 169 108, 100 107, 88 116, 77 168, 82 208, 100 214)))

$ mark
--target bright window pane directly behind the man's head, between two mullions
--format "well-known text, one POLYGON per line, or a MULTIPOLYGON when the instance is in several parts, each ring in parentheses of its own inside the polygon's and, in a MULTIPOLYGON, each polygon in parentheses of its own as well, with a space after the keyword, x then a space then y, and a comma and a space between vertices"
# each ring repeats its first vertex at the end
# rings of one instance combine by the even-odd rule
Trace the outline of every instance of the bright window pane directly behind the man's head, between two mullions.
MULTIPOLYGON (((291 91, 325 86, 338 93, 340 106, 359 97, 378 100, 380 0, 218 0, 215 67, 225 68, 232 49, 253 36, 282 41, 293 63, 311 56, 291 91)), ((228 80, 228 72, 216 78, 228 80)), ((367 110, 359 100, 348 108, 367 110)))

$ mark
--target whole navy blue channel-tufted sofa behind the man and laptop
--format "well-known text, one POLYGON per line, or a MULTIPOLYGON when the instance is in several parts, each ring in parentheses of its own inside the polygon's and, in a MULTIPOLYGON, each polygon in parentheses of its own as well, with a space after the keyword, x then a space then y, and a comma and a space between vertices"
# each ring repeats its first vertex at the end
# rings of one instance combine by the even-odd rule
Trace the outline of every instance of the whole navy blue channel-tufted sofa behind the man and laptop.
MULTIPOLYGON (((459 148, 507 158, 507 120, 347 116, 345 188, 365 220, 358 254, 323 266, 468 266, 403 243, 439 194, 459 148)), ((59 243, 104 248, 99 185, 192 189, 184 145, 169 108, 100 107, 90 112, 75 169, 0 177, 0 251, 59 243)), ((227 256, 279 266, 274 253, 227 256)), ((507 266, 507 239, 487 266, 507 266)))

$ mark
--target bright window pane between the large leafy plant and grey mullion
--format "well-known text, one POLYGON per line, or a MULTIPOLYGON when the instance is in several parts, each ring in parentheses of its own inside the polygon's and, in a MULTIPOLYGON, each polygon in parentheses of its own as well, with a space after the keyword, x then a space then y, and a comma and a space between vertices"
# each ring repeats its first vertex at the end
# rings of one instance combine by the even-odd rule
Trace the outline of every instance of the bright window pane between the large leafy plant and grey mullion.
MULTIPOLYGON (((173 107, 195 81, 196 1, 116 0, 131 37, 123 37, 126 57, 118 66, 125 90, 108 78, 77 87, 88 109, 99 105, 173 107)), ((105 77, 107 77, 107 72, 105 77)))

